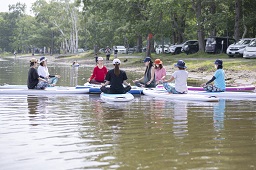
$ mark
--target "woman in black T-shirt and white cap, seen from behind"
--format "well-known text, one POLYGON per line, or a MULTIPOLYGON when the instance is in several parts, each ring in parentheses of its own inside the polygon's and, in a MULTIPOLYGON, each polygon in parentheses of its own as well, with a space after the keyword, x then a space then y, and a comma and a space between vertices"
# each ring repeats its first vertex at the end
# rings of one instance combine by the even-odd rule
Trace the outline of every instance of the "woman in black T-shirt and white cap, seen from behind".
POLYGON ((121 61, 118 58, 113 60, 115 68, 108 71, 105 78, 106 82, 103 83, 100 88, 103 93, 125 94, 131 90, 131 85, 126 82, 128 78, 125 71, 120 70, 119 68, 120 64, 121 61), (109 84, 110 87, 106 87, 109 84), (123 84, 126 85, 126 87, 124 87, 123 84))

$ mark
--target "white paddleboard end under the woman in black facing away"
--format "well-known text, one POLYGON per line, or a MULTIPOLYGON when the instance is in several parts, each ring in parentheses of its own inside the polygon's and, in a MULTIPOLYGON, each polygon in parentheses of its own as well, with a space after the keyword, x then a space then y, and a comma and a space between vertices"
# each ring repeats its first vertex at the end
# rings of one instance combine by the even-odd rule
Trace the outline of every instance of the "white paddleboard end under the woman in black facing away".
POLYGON ((100 94, 101 100, 105 102, 128 102, 134 99, 134 96, 131 93, 125 94, 100 94))

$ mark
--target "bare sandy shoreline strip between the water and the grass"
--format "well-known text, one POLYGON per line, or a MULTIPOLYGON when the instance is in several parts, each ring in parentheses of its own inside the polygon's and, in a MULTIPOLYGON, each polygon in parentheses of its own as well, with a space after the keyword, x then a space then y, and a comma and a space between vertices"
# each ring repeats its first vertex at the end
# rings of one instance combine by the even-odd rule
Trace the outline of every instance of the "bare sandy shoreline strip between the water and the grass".
MULTIPOLYGON (((36 58, 40 59, 41 56, 17 56, 17 60, 27 60, 29 61, 31 58, 36 58)), ((56 56, 50 56, 50 55, 45 55, 46 58, 49 60, 49 64, 52 64, 54 62, 58 62, 61 65, 71 65, 73 61, 77 61, 80 65, 83 67, 90 67, 93 68, 95 66, 95 59, 94 58, 74 58, 74 57, 63 57, 63 58, 57 58, 56 56)), ((15 59, 14 56, 9 56, 5 58, 11 58, 15 59)), ((1 61, 4 61, 5 58, 1 58, 1 61)), ((104 58, 104 64, 110 68, 112 66, 112 62, 106 61, 105 57, 104 58)), ((141 62, 141 66, 133 65, 132 63, 129 63, 129 59, 143 59, 142 56, 120 56, 119 59, 121 61, 124 61, 124 59, 128 59, 128 61, 122 65, 122 69, 125 71, 131 71, 131 72, 136 72, 136 73, 142 73, 144 72, 144 64, 141 62)), ((193 58, 196 59, 196 58, 193 58)), ((174 68, 170 64, 164 64, 164 67, 167 71, 167 76, 170 76, 176 68, 174 68)), ((233 70, 228 70, 225 69, 225 74, 226 74, 226 84, 227 86, 239 86, 239 85, 255 85, 256 83, 256 74, 247 71, 247 70, 241 70, 241 71, 233 71, 233 70)), ((189 70, 189 79, 195 80, 195 81, 208 81, 212 78, 214 71, 213 72, 196 72, 194 70, 189 70)))

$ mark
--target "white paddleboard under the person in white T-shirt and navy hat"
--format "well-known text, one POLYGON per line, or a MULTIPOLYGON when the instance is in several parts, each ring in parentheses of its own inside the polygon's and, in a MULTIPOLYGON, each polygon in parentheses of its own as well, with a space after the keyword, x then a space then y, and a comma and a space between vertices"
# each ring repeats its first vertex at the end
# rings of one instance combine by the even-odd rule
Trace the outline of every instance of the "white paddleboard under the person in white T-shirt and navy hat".
POLYGON ((197 94, 170 94, 166 90, 160 89, 144 89, 143 94, 156 99, 168 100, 184 100, 184 101, 202 101, 202 102, 218 102, 219 99, 210 95, 197 94))

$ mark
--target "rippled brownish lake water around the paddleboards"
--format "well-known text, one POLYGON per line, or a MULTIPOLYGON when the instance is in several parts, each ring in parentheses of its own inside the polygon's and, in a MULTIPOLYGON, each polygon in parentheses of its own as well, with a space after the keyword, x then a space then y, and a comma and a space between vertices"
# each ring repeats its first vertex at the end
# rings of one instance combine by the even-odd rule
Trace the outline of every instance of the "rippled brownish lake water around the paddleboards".
MULTIPOLYGON (((49 69, 62 75, 60 85, 90 74, 49 69)), ((27 70, 24 61, 0 61, 0 84, 25 84, 27 70)), ((3 170, 256 169, 256 101, 0 95, 0 108, 3 170)))

